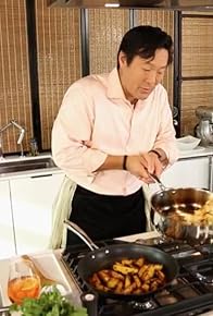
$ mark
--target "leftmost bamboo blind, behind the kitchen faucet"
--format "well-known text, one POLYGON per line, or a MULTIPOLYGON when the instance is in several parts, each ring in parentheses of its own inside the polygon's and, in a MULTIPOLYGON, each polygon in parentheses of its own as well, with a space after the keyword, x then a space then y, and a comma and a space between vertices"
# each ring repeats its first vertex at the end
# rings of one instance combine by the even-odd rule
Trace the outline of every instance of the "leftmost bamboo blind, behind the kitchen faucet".
MULTIPOLYGON (((24 0, 0 1, 0 127, 11 120, 26 129, 24 149, 32 137, 32 108, 24 0)), ((20 151, 18 131, 3 132, 3 151, 20 151)))

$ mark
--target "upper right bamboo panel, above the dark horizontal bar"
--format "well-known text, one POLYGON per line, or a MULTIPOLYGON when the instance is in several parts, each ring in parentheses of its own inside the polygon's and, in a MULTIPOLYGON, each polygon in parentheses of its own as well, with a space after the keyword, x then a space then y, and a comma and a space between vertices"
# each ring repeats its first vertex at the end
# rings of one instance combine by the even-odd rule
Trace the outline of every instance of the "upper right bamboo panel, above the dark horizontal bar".
POLYGON ((213 75, 212 19, 183 19, 183 76, 213 75))

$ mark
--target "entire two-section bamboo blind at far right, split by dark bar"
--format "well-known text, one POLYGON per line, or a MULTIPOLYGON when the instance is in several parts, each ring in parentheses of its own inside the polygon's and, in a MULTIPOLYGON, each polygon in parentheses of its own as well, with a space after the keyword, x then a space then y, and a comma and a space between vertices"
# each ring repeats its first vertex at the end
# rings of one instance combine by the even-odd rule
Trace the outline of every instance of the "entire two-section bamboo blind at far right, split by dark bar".
MULTIPOLYGON (((185 16, 183 19, 181 75, 184 77, 213 76, 213 13, 185 13, 199 14, 199 16, 185 16), (206 14, 212 15, 212 17, 205 17, 206 14)), ((183 135, 195 134, 195 126, 199 122, 196 117, 197 107, 213 104, 212 85, 213 81, 208 78, 183 82, 180 113, 183 135)))

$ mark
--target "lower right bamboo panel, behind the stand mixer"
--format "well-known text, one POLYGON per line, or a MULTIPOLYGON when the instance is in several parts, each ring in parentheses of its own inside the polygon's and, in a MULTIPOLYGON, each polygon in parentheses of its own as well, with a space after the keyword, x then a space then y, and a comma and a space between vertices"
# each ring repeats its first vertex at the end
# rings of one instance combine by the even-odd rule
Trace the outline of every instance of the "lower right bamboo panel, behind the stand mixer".
POLYGON ((181 135, 193 134, 199 120, 196 109, 199 106, 213 105, 213 81, 195 81, 183 83, 181 97, 181 135))

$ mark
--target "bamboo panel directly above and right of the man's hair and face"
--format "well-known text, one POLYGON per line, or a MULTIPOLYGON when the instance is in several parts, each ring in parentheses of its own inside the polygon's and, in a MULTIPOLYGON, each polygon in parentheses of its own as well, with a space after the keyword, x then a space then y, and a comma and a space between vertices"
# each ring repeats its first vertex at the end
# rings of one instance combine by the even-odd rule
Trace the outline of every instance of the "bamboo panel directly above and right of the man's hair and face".
MULTIPOLYGON (((136 25, 159 26, 174 37, 174 12, 163 10, 136 10, 136 25)), ((168 93, 170 104, 173 106, 173 64, 166 70, 163 85, 168 93)))

